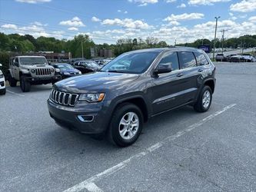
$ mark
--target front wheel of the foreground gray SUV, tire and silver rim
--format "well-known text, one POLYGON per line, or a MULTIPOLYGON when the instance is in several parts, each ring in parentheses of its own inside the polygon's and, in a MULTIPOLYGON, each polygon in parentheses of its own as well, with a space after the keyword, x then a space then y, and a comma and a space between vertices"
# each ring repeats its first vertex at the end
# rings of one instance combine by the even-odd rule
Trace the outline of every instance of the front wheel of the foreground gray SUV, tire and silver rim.
POLYGON ((141 134, 142 127, 143 114, 140 108, 135 104, 120 104, 111 118, 108 138, 119 147, 127 147, 137 141, 141 134), (129 120, 129 118, 131 120, 129 120), (122 124, 121 121, 125 124, 122 124), (121 136, 122 131, 124 133, 123 136, 121 136))

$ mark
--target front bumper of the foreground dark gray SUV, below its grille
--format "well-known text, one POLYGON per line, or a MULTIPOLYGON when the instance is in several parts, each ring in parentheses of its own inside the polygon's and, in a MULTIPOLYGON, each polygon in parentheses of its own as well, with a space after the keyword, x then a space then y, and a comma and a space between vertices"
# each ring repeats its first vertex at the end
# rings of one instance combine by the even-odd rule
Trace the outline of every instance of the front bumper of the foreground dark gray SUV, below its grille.
POLYGON ((106 131, 109 115, 104 113, 104 108, 103 103, 85 104, 84 101, 78 101, 75 107, 67 107, 48 99, 49 114, 57 124, 85 134, 101 134, 106 131), (79 119, 80 115, 93 118, 84 122, 79 119))

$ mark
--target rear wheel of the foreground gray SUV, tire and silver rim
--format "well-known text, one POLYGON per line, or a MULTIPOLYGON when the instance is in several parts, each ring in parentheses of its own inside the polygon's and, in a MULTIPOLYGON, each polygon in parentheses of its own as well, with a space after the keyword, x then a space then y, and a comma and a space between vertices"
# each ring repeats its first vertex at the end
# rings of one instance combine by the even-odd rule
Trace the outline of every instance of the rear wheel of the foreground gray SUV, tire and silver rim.
POLYGON ((201 89, 201 92, 198 96, 198 101, 196 101, 196 103, 194 104, 194 110, 198 112, 208 111, 208 109, 211 107, 211 100, 211 88, 208 85, 204 85, 204 88, 201 89))

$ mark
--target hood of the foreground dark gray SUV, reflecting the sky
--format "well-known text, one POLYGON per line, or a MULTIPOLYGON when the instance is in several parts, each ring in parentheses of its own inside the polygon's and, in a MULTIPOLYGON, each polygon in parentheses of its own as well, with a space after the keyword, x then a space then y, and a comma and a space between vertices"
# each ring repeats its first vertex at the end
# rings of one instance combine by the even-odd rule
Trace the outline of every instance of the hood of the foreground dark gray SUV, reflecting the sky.
POLYGON ((138 77, 138 74, 96 72, 58 81, 54 84, 54 88, 71 93, 115 90, 118 87, 131 86, 131 82, 138 77))

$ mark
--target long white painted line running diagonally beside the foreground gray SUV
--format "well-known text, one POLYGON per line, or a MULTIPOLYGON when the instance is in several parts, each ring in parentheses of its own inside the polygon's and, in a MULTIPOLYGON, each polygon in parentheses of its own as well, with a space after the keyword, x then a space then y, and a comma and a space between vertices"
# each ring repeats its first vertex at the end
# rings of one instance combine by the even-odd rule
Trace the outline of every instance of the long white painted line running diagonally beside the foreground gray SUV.
POLYGON ((230 104, 230 105, 226 106, 225 108, 223 108, 221 111, 217 111, 214 114, 209 115, 207 118, 204 118, 201 121, 198 121, 198 123, 191 124, 190 126, 185 128, 184 131, 178 131, 177 134, 171 135, 169 137, 165 137, 165 139, 163 141, 160 141, 157 144, 151 145, 151 147, 148 147, 145 151, 142 151, 138 154, 135 154, 134 156, 131 156, 127 160, 122 161, 119 164, 116 164, 114 167, 110 167, 107 170, 104 170, 101 173, 96 174, 95 176, 92 176, 92 177, 88 178, 87 180, 82 181, 80 184, 76 184, 75 186, 68 188, 64 192, 77 192, 77 191, 81 191, 81 190, 85 190, 85 189, 88 191, 103 191, 95 185, 96 180, 99 180, 102 177, 106 177, 108 175, 114 174, 116 171, 121 170, 122 168, 126 167, 126 165, 132 159, 143 157, 143 156, 151 153, 152 151, 155 151, 156 149, 160 148, 164 144, 167 144, 169 141, 173 141, 176 138, 181 137, 181 135, 194 130, 195 128, 201 126, 201 124, 204 124, 205 122, 210 121, 212 118, 218 116, 219 114, 222 114, 224 111, 227 111, 228 109, 233 108, 235 105, 236 104, 230 104))

